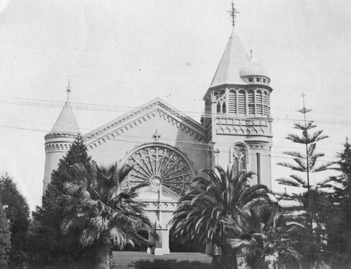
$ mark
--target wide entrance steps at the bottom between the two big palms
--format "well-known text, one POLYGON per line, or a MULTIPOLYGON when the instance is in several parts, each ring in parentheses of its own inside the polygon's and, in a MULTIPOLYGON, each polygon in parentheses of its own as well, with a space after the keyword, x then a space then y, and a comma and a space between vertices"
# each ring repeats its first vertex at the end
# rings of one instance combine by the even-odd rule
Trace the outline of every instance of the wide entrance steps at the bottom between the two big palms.
POLYGON ((213 269, 212 257, 196 252, 155 256, 138 251, 112 251, 113 269, 213 269))

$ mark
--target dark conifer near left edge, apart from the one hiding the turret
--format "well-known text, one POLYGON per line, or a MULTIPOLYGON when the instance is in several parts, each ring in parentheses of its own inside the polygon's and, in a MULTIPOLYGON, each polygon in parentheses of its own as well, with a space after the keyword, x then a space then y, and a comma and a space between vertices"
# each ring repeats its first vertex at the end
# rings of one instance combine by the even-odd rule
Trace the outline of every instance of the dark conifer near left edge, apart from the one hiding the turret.
POLYGON ((5 208, 6 218, 10 224, 9 264, 20 266, 26 258, 25 240, 29 226, 29 207, 8 174, 4 174, 0 178, 0 202, 5 208))

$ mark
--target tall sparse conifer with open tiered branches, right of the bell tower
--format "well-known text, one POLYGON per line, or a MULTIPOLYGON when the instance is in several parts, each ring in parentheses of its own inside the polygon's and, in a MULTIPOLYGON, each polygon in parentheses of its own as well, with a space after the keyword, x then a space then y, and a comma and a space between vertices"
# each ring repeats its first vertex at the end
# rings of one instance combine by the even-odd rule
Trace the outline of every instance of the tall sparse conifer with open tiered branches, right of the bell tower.
POLYGON ((322 242, 324 240, 324 206, 329 204, 326 193, 319 191, 318 184, 311 184, 310 176, 312 173, 322 172, 331 166, 331 163, 318 164, 319 158, 324 156, 324 153, 317 153, 317 142, 326 139, 326 135, 322 135, 322 130, 312 131, 317 125, 313 121, 306 121, 306 113, 310 109, 300 109, 298 112, 303 113, 304 123, 295 123, 294 128, 300 130, 302 134, 289 134, 286 139, 293 143, 301 144, 305 148, 305 153, 298 151, 285 151, 284 154, 293 158, 293 163, 282 162, 278 165, 290 168, 294 171, 289 178, 277 179, 279 184, 296 187, 293 193, 285 194, 287 200, 293 200, 291 207, 286 207, 288 212, 304 212, 298 215, 300 222, 305 224, 307 228, 305 233, 300 234, 300 251, 303 252, 305 266, 311 266, 310 263, 318 261, 322 251, 322 242))

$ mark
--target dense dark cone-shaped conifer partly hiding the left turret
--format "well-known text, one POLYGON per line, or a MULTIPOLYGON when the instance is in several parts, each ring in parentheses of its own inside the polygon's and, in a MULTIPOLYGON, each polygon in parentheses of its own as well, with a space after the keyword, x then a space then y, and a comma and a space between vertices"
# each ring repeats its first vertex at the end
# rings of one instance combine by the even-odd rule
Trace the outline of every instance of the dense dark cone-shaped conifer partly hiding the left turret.
POLYGON ((33 212, 34 221, 27 245, 31 252, 31 263, 60 263, 75 260, 82 254, 83 249, 77 242, 77 237, 62 235, 60 226, 65 219, 64 208, 67 203, 65 182, 77 176, 77 172, 72 168, 74 164, 81 163, 88 170, 90 160, 84 139, 77 136, 67 155, 60 160, 58 169, 52 172, 42 206, 33 212))

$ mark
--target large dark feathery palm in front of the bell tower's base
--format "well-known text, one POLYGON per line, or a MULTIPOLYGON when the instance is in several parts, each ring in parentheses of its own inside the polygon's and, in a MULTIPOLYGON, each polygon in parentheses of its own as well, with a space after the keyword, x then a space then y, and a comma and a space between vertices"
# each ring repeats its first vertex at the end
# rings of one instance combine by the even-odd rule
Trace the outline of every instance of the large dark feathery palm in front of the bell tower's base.
POLYGON ((270 201, 270 191, 264 185, 249 185, 252 172, 234 174, 218 166, 201 171, 206 177, 192 179, 192 190, 180 198, 171 221, 173 235, 198 244, 217 244, 222 249, 220 268, 237 268, 237 249, 244 245, 226 244, 225 220, 234 217, 238 208, 270 201))

